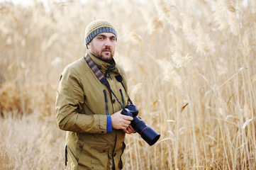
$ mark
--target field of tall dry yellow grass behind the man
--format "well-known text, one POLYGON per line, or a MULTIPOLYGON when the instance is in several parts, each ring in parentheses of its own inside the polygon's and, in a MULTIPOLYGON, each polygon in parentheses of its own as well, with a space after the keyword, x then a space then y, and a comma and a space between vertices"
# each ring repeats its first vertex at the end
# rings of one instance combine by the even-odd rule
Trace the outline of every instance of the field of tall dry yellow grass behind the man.
POLYGON ((65 169, 55 96, 94 19, 118 30, 116 62, 150 147, 126 135, 125 169, 256 169, 256 1, 0 2, 0 169, 65 169), (46 4, 46 5, 45 5, 46 4))

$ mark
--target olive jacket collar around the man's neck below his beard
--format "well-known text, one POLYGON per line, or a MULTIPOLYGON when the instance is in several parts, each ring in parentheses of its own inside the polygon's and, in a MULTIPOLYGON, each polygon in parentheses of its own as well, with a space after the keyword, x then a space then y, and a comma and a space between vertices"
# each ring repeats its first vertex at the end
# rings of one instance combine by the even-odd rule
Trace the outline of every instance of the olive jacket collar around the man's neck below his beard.
POLYGON ((111 70, 116 69, 116 62, 115 60, 111 60, 111 63, 104 62, 103 60, 100 60, 99 58, 95 57, 94 55, 91 54, 91 52, 87 52, 89 57, 91 57, 91 60, 94 61, 96 66, 101 70, 102 74, 106 76, 108 72, 111 72, 111 70))

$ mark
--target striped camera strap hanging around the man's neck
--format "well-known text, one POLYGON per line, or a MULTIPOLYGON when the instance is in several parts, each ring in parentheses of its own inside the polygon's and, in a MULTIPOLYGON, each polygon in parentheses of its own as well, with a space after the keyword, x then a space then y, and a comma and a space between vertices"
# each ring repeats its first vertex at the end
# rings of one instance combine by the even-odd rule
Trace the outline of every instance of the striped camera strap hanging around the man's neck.
MULTIPOLYGON (((108 80, 106 79, 106 77, 104 77, 104 74, 102 74, 101 70, 99 70, 99 68, 96 66, 96 64, 94 63, 93 60, 91 60, 91 57, 89 57, 89 55, 85 55, 84 56, 84 60, 87 61, 87 64, 89 65, 89 67, 91 68, 91 71, 94 72, 95 76, 99 79, 99 81, 101 82, 101 84, 104 84, 113 94, 113 96, 115 96, 116 100, 118 101, 118 103, 121 105, 121 108, 124 108, 124 106, 121 104, 121 102, 118 100, 118 98, 116 97, 116 94, 113 93, 113 91, 111 90, 111 87, 108 84, 108 80)), ((123 83, 122 83, 123 84, 123 83)), ((123 86, 124 88, 124 86, 123 86)), ((125 88, 124 88, 125 89, 125 88)), ((126 90, 126 89, 125 89, 126 90)))

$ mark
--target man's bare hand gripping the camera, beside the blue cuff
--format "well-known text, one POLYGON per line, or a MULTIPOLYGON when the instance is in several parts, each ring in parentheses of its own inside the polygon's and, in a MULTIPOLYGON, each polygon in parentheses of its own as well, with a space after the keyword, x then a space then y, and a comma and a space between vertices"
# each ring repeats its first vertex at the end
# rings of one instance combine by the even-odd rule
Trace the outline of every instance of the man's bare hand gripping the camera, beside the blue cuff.
POLYGON ((130 125, 130 121, 133 120, 133 118, 128 115, 122 115, 121 111, 118 111, 111 115, 111 123, 113 129, 126 130, 126 128, 128 128, 128 126, 130 125))

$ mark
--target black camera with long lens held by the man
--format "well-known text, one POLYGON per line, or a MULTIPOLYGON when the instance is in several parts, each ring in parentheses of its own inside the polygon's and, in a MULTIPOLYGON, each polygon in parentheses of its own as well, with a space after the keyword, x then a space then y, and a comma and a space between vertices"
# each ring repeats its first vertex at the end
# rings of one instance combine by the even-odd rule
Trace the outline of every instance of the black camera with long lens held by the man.
POLYGON ((140 118, 137 117, 138 108, 135 105, 126 105, 126 107, 123 108, 123 111, 121 111, 121 114, 133 117, 133 120, 130 121, 130 125, 136 132, 140 134, 140 136, 143 138, 143 140, 145 140, 145 142, 148 143, 148 145, 154 145, 155 142, 157 142, 157 140, 160 138, 159 133, 157 133, 154 129, 150 128, 148 125, 145 124, 145 122, 143 122, 143 120, 140 120, 140 118))

